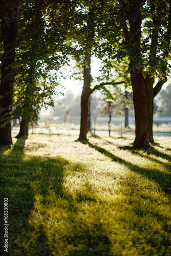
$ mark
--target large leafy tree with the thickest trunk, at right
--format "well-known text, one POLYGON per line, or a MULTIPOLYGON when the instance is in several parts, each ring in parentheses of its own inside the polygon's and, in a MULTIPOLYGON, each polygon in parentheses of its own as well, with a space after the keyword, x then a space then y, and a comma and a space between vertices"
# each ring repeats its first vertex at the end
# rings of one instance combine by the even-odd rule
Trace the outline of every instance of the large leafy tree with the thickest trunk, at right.
POLYGON ((146 148, 149 141, 153 142, 153 98, 167 80, 169 67, 170 8, 169 1, 123 0, 115 4, 107 26, 110 57, 130 59, 136 120, 134 148, 146 148))

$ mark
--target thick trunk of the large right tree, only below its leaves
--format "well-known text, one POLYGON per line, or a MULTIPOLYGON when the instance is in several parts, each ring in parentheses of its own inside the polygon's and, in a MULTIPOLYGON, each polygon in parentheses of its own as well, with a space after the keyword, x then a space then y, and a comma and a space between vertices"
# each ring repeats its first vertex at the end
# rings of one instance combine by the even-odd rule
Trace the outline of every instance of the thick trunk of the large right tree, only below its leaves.
POLYGON ((150 146, 148 137, 147 109, 144 78, 142 70, 131 71, 133 100, 135 111, 135 141, 134 148, 150 146))

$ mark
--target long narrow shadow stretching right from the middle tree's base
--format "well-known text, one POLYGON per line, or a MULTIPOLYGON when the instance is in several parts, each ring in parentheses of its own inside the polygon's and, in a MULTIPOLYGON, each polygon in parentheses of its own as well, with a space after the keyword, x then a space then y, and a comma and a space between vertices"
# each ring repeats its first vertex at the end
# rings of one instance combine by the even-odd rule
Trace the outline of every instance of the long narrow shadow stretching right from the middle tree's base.
MULTIPOLYGON (((88 145, 95 150, 97 150, 99 153, 105 155, 106 157, 109 157, 112 159, 112 161, 118 162, 120 164, 123 164, 127 167, 129 167, 133 172, 141 174, 149 179, 154 180, 157 182, 162 190, 170 197, 171 190, 170 184, 171 184, 171 175, 167 173, 161 172, 159 169, 156 168, 143 168, 139 167, 138 165, 135 165, 131 162, 125 161, 124 159, 115 156, 114 154, 110 153, 109 151, 106 151, 104 148, 99 147, 97 145, 93 145, 92 143, 88 143, 88 145)), ((163 154, 165 155, 165 154, 163 154)), ((170 167, 170 166, 169 166, 170 167)))

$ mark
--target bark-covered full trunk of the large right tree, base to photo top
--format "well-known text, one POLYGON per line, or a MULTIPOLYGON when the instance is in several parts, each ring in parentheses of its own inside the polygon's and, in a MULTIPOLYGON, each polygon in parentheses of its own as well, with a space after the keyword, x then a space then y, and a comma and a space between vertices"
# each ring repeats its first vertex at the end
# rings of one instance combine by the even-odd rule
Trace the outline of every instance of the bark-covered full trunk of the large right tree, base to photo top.
MULTIPOLYGON (((131 40, 131 43, 134 44, 136 50, 134 54, 130 54, 130 67, 137 67, 137 62, 139 65, 142 65, 142 53, 140 47, 142 23, 141 1, 133 1, 130 3, 132 5, 132 11, 135 12, 136 18, 134 20, 130 19, 130 34, 132 35, 132 38, 129 38, 129 34, 125 34, 125 39, 131 40)), ((135 111, 135 141, 133 143, 133 147, 137 149, 147 148, 150 144, 148 137, 145 84, 142 68, 132 68, 130 74, 135 111)))

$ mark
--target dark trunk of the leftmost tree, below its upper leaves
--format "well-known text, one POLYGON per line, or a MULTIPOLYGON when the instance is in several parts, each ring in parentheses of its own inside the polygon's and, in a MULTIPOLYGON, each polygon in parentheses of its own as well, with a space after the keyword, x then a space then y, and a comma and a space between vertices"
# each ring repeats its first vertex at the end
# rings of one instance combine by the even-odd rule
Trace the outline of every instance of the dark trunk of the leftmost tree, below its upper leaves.
POLYGON ((15 42, 17 25, 15 22, 4 23, 2 18, 2 32, 4 38, 4 53, 2 59, 2 76, 0 86, 0 145, 12 144, 11 117, 13 95, 13 70, 11 65, 15 57, 15 42))

